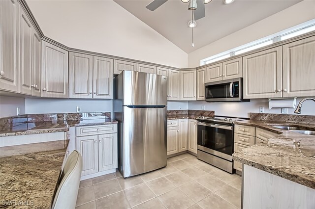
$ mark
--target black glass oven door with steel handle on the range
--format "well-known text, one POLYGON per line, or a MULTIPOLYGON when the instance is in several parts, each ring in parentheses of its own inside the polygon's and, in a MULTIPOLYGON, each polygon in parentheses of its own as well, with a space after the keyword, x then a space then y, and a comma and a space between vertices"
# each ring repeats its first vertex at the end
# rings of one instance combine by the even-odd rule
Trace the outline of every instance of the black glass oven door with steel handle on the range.
POLYGON ((197 149, 232 161, 233 127, 198 122, 197 149))

